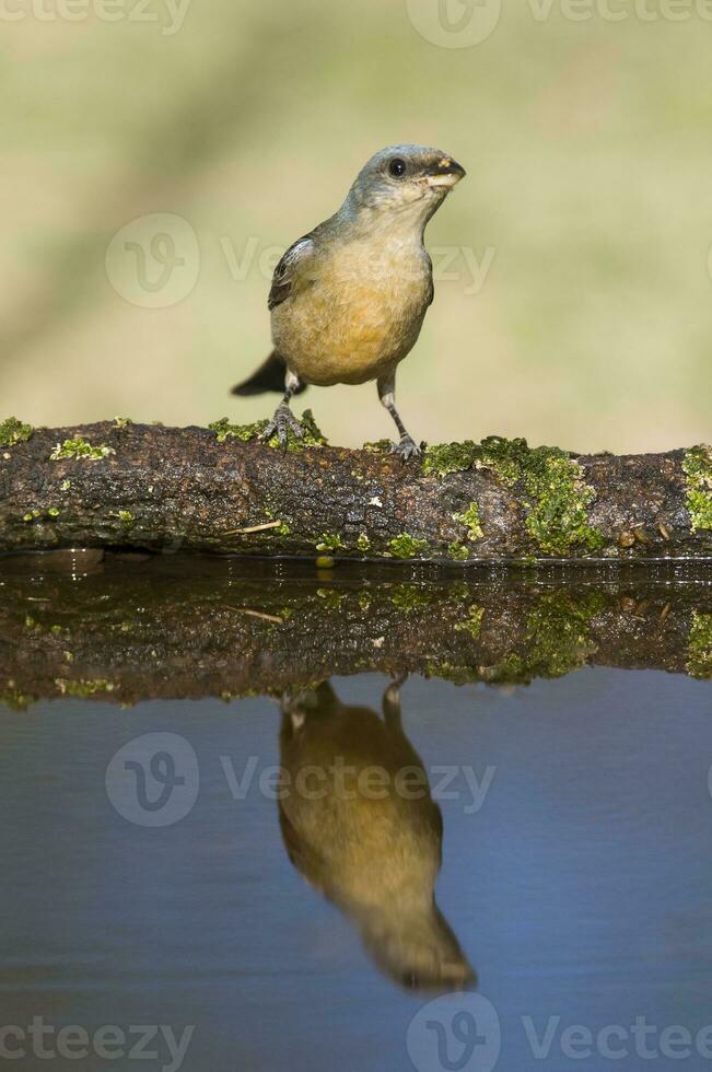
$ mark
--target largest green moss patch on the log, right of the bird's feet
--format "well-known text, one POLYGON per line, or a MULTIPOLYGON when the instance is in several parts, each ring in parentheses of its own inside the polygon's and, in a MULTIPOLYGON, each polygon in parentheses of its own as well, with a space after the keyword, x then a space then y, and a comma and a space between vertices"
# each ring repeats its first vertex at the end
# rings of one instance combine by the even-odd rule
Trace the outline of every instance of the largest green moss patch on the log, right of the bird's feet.
MULTIPOLYGON (((526 527, 546 555, 565 557, 573 548, 599 550, 603 536, 588 524, 588 506, 595 492, 584 480, 575 458, 555 446, 530 448, 523 439, 498 435, 472 443, 446 443, 429 447, 423 473, 492 469, 509 488, 522 485, 526 492, 526 527)), ((481 531, 481 529, 480 529, 481 531)))

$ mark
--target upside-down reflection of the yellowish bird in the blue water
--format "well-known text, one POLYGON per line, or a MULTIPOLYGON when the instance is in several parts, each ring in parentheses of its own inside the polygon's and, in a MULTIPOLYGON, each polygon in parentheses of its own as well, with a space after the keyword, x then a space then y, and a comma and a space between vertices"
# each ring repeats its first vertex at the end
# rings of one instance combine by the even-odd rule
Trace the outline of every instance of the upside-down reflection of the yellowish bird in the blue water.
POLYGON ((282 699, 280 826, 290 860, 358 927, 378 967, 410 989, 475 981, 435 902, 443 820, 404 733, 399 684, 383 719, 328 683, 282 699))

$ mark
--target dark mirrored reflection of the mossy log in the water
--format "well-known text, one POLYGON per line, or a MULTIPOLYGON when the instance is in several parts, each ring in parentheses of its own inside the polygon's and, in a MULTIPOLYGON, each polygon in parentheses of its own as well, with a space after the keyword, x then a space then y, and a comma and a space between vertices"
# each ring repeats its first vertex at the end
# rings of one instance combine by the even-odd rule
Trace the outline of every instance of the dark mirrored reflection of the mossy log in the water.
POLYGON ((331 677, 712 680, 712 568, 468 571, 52 552, 4 560, 0 701, 276 695, 331 677))

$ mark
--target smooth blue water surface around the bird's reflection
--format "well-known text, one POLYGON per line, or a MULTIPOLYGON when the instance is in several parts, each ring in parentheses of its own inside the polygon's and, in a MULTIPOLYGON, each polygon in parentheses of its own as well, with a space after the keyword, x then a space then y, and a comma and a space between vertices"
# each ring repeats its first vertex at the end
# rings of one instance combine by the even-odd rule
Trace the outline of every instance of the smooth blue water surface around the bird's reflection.
MULTIPOLYGON (((387 684, 331 683, 374 711, 387 684)), ((401 692, 443 814, 437 902, 476 988, 400 986, 290 863, 265 773, 280 762, 276 701, 45 702, 2 714, 0 1027, 16 1030, 0 1063, 712 1067, 710 685, 596 668, 514 691, 411 679, 401 692), (188 743, 147 781, 154 802, 161 780, 172 795, 165 826, 127 818, 131 801, 115 806, 106 784, 117 750, 155 733, 188 743), (198 774, 174 784, 190 748, 198 774), (235 799, 225 771, 241 781, 250 757, 235 799), (446 789, 442 767, 456 770, 446 789), (54 1057, 37 1056, 37 1025, 54 1057), (86 1046, 70 1034, 62 1057, 68 1025, 86 1046)))

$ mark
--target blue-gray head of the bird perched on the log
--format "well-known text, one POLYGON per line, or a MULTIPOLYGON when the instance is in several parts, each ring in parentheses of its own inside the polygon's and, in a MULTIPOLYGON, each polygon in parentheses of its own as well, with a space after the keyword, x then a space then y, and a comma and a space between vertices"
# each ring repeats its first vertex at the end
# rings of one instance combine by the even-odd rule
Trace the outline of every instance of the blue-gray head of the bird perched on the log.
POLYGON ((345 208, 353 214, 405 214, 424 224, 464 176, 465 168, 442 149, 390 145, 361 170, 345 208))

